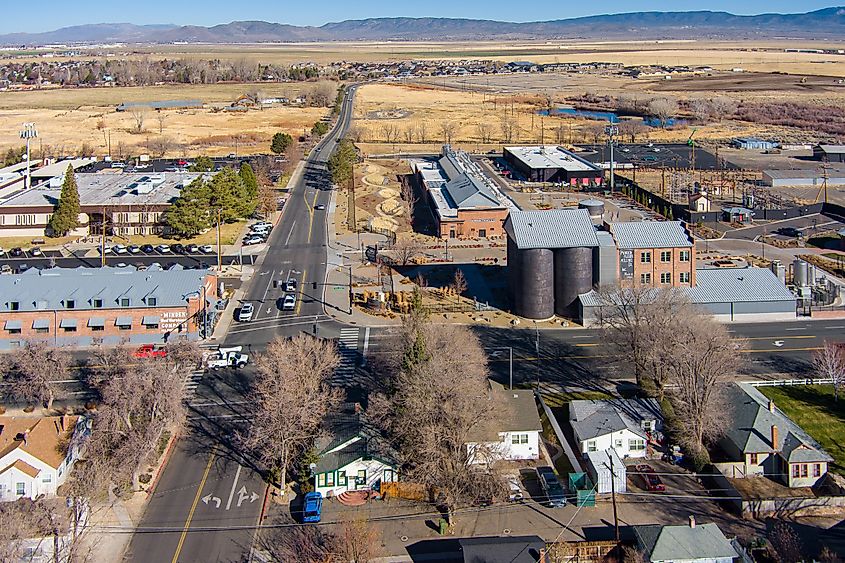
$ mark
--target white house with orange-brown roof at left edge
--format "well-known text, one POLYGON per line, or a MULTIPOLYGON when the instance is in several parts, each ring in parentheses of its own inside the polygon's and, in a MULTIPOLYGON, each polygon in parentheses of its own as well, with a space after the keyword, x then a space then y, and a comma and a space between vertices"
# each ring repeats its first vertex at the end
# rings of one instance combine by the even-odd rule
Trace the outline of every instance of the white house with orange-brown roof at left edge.
POLYGON ((89 425, 79 416, 0 417, 0 501, 56 496, 89 425))

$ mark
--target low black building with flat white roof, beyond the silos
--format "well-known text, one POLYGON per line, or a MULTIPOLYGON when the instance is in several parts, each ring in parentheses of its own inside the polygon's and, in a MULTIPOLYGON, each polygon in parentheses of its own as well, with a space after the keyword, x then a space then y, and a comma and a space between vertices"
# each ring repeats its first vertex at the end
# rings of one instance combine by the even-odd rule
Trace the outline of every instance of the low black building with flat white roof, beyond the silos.
POLYGON ((529 182, 554 182, 584 188, 600 187, 604 183, 601 168, 563 147, 505 147, 503 157, 529 182))

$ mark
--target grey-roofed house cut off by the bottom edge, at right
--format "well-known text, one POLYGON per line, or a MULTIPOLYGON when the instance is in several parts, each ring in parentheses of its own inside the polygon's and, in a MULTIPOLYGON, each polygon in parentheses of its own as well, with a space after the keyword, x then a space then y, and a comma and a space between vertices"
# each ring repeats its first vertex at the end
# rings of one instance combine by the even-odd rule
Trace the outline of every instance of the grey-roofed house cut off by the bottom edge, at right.
POLYGON ((716 524, 634 526, 637 547, 650 563, 732 563, 739 557, 716 524))

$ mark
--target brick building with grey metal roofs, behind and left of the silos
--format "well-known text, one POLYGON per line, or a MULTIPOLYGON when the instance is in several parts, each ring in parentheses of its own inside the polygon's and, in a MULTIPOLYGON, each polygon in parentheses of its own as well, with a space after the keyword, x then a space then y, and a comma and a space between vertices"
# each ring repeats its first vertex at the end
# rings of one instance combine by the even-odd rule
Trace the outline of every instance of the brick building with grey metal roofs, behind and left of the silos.
POLYGON ((443 239, 499 238, 513 202, 472 158, 444 145, 437 162, 414 164, 428 194, 438 236, 443 239))

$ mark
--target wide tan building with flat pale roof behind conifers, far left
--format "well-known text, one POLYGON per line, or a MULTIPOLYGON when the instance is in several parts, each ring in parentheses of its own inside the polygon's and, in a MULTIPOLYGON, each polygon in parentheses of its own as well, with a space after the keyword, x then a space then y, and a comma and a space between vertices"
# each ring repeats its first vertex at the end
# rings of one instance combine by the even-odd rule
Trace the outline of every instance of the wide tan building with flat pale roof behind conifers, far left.
MULTIPOLYGON (((66 169, 66 168, 65 168, 66 169)), ((29 189, 0 195, 0 236, 44 236, 62 192, 64 170, 29 189)), ((78 173, 79 223, 73 234, 147 235, 167 232, 164 212, 182 188, 202 176, 188 172, 78 173)))

